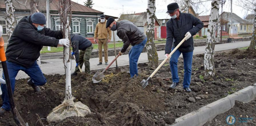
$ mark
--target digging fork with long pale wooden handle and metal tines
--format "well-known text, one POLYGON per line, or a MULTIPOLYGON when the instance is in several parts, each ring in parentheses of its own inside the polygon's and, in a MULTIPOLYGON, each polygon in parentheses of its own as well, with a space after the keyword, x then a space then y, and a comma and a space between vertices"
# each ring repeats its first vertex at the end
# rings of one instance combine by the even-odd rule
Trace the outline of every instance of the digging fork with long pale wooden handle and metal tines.
MULTIPOLYGON (((186 38, 186 37, 185 37, 186 38)), ((144 89, 148 85, 148 81, 156 74, 156 72, 164 65, 164 63, 172 56, 172 54, 180 47, 180 45, 185 41, 185 38, 180 41, 180 43, 172 50, 172 52, 169 54, 167 58, 164 59, 164 61, 156 68, 156 70, 148 77, 147 80, 143 79, 140 84, 142 85, 142 88, 144 89)))

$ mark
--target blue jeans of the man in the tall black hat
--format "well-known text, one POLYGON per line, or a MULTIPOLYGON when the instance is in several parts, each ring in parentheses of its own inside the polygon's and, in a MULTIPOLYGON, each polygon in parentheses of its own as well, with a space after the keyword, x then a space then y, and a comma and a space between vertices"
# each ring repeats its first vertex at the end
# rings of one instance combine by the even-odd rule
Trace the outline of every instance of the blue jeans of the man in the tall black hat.
MULTIPOLYGON (((172 48, 172 50, 174 47, 172 48)), ((170 60, 170 68, 172 71, 172 82, 179 82, 178 75, 178 59, 180 57, 181 52, 177 49, 171 56, 170 60)), ((183 88, 189 87, 191 81, 191 73, 192 73, 192 58, 193 51, 188 53, 182 53, 183 62, 184 62, 184 80, 183 80, 183 88)))

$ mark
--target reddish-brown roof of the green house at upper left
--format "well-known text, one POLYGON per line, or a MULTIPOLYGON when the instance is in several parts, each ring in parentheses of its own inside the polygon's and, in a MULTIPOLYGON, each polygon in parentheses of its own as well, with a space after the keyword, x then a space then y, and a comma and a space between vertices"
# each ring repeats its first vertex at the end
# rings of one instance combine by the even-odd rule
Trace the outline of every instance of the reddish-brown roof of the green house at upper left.
MULTIPOLYGON (((15 10, 30 10, 29 9, 30 8, 30 6, 29 6, 30 0, 19 0, 19 2, 21 4, 19 4, 15 0, 12 1, 13 5, 15 6, 15 10), (26 1, 27 1, 26 6, 28 8, 26 8, 24 5, 21 5, 21 4, 25 4, 26 1)), ((58 11, 57 8, 56 8, 56 5, 58 5, 58 4, 59 4, 58 0, 52 0, 52 3, 50 3, 50 10, 51 11, 58 11)), ((94 10, 94 9, 86 7, 84 5, 77 4, 73 1, 71 1, 71 5, 72 5, 72 11, 73 12, 103 13, 101 11, 94 10)), ((0 8, 5 9, 4 0, 0 1, 0 8)), ((46 0, 40 0, 39 1, 39 9, 38 10, 39 11, 46 11, 46 0)))

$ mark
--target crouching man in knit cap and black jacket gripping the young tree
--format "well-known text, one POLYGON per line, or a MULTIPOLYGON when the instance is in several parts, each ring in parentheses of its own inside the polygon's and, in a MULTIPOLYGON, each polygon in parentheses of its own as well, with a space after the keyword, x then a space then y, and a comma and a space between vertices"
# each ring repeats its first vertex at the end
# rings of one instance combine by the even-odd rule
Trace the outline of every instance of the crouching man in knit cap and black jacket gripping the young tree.
MULTIPOLYGON (((64 45, 69 47, 69 40, 62 39, 61 31, 52 31, 44 27, 44 24, 46 24, 44 14, 34 13, 32 16, 23 17, 12 33, 5 52, 12 93, 15 87, 15 77, 20 70, 30 77, 28 85, 35 92, 41 91, 39 86, 46 83, 46 78, 36 64, 36 60, 40 56, 43 46, 64 45)), ((0 115, 3 115, 6 110, 11 109, 11 106, 6 85, 1 84, 1 89, 3 91, 3 106, 0 108, 0 115)))

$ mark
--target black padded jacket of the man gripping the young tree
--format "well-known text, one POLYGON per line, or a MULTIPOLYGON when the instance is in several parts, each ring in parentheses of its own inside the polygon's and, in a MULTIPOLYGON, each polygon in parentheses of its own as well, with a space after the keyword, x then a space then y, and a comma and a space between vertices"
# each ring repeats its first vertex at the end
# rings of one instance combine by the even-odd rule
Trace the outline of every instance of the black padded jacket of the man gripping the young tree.
POLYGON ((61 31, 45 28, 37 32, 31 16, 23 17, 15 27, 6 48, 7 61, 29 67, 40 56, 43 46, 57 47, 62 39, 61 31))

